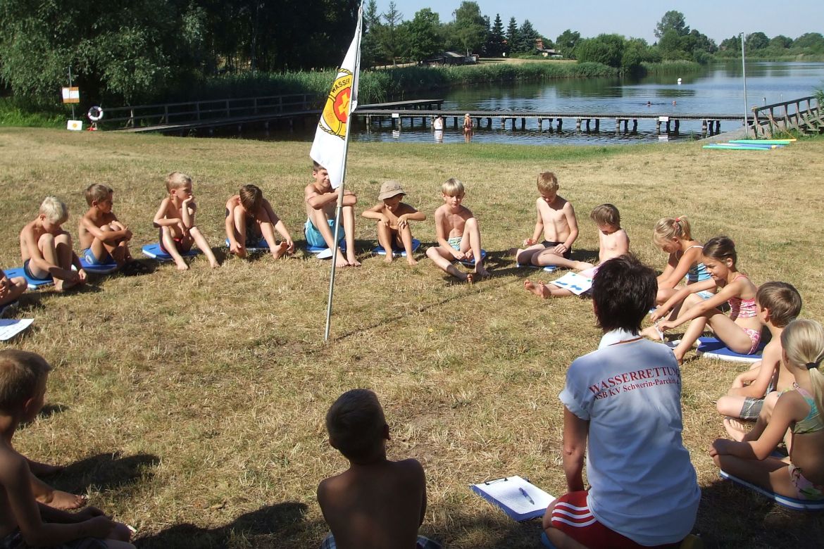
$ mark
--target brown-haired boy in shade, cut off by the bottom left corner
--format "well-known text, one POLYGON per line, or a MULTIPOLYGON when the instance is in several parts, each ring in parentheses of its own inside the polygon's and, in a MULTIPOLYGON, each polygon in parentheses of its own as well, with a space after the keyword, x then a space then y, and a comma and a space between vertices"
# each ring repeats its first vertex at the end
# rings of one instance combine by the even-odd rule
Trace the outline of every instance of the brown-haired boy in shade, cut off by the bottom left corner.
POLYGON ((43 407, 49 370, 35 353, 0 351, 0 547, 133 549, 129 528, 99 509, 71 514, 35 501, 29 463, 12 447, 12 437, 43 407))

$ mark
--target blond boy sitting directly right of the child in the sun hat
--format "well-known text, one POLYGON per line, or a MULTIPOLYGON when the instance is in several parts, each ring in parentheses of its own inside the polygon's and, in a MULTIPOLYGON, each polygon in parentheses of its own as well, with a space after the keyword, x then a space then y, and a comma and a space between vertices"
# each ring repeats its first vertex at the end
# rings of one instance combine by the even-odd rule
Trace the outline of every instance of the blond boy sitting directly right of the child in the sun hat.
POLYGON ((426 250, 426 256, 458 280, 472 283, 475 276, 489 277, 480 253, 480 226, 475 215, 463 206, 466 191, 458 179, 449 179, 442 185, 443 205, 435 210, 435 235, 438 246, 426 250), (475 260, 475 273, 462 272, 452 262, 475 260))

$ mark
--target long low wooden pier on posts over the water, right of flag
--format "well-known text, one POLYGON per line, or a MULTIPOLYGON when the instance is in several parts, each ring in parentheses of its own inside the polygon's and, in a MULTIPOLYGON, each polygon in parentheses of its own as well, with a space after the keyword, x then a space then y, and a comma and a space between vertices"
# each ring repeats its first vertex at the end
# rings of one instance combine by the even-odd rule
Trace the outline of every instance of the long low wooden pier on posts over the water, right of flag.
POLYGON ((737 121, 743 123, 743 116, 736 114, 691 114, 691 113, 558 113, 558 112, 537 112, 537 111, 447 111, 447 110, 393 110, 393 109, 371 109, 371 105, 363 105, 355 110, 354 115, 366 119, 368 125, 377 123, 382 126, 387 120, 392 128, 400 128, 404 121, 408 121, 414 128, 415 122, 420 121, 420 126, 426 128, 427 123, 431 124, 436 116, 442 116, 445 123, 452 119, 454 128, 461 128, 464 114, 468 113, 474 120, 475 128, 493 128, 493 121, 499 120, 500 127, 506 128, 508 125, 513 130, 517 129, 520 123, 521 129, 527 128, 527 120, 536 120, 538 130, 546 128, 550 132, 561 132, 564 128, 564 121, 575 124, 576 131, 586 131, 587 133, 599 133, 601 131, 602 120, 606 124, 614 122, 616 133, 620 133, 621 126, 625 133, 636 133, 638 131, 639 120, 652 120, 658 133, 662 133, 662 128, 666 133, 678 133, 683 120, 700 120, 702 133, 714 135, 721 132, 722 121, 737 121), (484 124, 485 122, 485 124, 484 124))

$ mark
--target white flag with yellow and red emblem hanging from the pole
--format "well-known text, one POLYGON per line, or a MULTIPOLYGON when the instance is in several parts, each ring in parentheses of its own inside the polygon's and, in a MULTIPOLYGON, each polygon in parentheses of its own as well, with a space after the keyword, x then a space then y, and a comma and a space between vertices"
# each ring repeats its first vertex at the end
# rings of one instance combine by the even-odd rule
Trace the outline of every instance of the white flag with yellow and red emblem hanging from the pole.
POLYGON ((349 139, 349 115, 358 106, 358 72, 360 71, 360 38, 362 10, 358 9, 355 37, 346 53, 344 63, 326 98, 326 105, 317 123, 315 141, 309 156, 329 172, 332 188, 338 188, 346 169, 346 140, 349 139))

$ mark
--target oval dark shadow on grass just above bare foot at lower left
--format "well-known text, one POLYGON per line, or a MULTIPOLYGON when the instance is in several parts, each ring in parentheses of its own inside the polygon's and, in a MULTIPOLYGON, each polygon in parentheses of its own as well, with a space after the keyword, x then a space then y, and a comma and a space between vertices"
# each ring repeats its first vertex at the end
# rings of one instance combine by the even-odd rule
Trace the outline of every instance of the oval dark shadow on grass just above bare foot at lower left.
POLYGON ((160 463, 152 454, 121 457, 116 454, 97 454, 68 465, 50 481, 59 490, 82 494, 92 486, 108 490, 137 484, 151 475, 151 469, 160 463))

